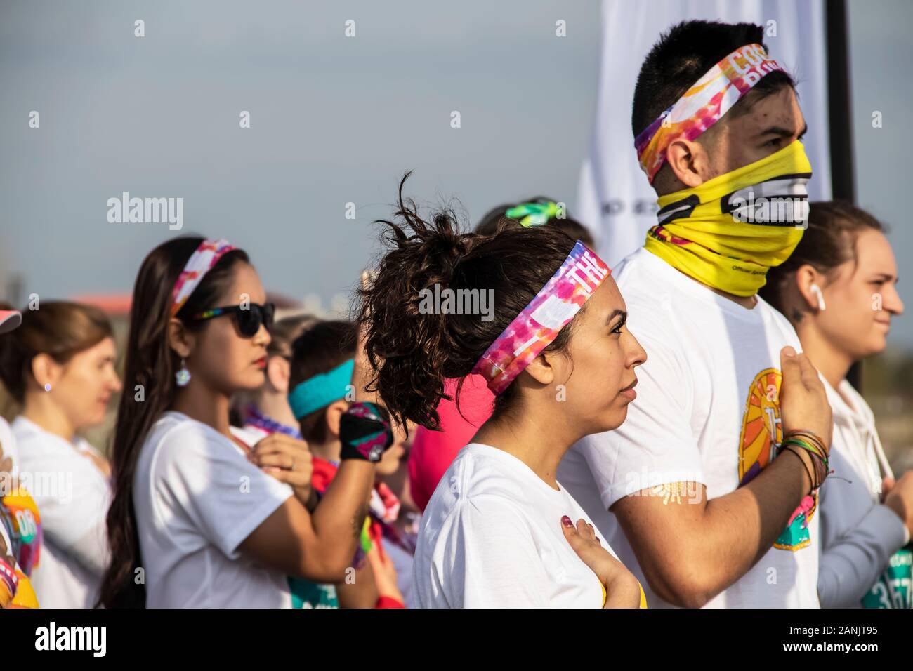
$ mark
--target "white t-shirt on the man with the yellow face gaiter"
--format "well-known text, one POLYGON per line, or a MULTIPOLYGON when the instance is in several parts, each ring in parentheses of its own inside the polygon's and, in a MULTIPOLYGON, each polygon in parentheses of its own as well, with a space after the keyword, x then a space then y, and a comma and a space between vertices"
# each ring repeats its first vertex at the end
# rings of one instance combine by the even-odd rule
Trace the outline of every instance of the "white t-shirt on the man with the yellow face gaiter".
MULTIPOLYGON (((669 604, 649 589, 607 508, 680 481, 703 483, 708 498, 717 498, 757 475, 770 460, 771 432, 782 436, 780 350, 801 346, 792 325, 760 297, 753 309, 743 308, 643 248, 613 277, 628 326, 647 353, 637 369, 637 398, 618 429, 572 446, 558 477, 640 579, 650 607, 662 607, 669 604)), ((818 607, 819 518, 815 508, 797 515, 773 548, 707 605, 818 607)))

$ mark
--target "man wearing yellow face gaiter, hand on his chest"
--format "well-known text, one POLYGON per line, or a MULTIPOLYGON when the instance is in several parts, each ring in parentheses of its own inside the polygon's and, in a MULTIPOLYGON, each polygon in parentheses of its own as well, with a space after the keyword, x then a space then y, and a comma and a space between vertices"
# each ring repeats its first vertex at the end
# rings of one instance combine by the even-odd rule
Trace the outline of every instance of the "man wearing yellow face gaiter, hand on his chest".
POLYGON ((830 406, 756 295, 802 238, 812 167, 795 83, 762 39, 688 21, 645 59, 632 122, 657 223, 613 275, 647 361, 624 425, 558 473, 651 606, 819 606, 830 406))

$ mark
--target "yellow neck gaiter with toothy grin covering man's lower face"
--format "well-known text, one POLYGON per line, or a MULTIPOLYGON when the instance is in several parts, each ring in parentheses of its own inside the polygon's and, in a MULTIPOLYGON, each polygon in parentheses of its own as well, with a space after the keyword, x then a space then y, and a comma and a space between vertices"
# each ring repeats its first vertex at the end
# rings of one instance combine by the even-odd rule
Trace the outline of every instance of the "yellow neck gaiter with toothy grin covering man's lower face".
POLYGON ((645 247, 709 287, 753 296, 808 225, 812 164, 798 140, 761 161, 661 195, 645 247))

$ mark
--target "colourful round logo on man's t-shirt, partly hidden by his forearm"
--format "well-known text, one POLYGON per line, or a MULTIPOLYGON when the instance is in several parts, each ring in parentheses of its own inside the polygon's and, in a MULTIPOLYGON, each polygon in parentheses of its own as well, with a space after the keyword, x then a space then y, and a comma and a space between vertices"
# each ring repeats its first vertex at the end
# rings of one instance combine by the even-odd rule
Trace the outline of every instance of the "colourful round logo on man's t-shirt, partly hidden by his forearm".
MULTIPOLYGON (((776 368, 764 369, 755 375, 751 382, 739 436, 740 487, 757 477, 761 470, 773 461, 777 446, 782 441, 781 383, 782 375, 776 368)), ((813 496, 803 498, 799 507, 792 512, 786 529, 783 529, 782 534, 773 541, 774 548, 794 552, 812 542, 808 523, 814 515, 817 503, 817 492, 814 492, 813 496)))

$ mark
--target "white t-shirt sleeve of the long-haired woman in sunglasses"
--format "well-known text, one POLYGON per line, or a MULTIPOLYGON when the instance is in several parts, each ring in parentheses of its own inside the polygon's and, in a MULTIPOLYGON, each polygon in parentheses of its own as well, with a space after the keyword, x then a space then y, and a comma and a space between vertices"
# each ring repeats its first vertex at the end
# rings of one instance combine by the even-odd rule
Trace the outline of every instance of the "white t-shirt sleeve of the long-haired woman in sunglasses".
POLYGON ((232 560, 240 554, 237 546, 293 494, 250 463, 231 440, 195 422, 163 436, 152 466, 152 488, 165 523, 168 512, 161 504, 167 500, 232 560))

